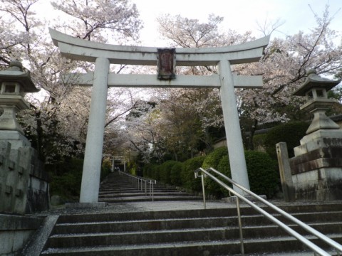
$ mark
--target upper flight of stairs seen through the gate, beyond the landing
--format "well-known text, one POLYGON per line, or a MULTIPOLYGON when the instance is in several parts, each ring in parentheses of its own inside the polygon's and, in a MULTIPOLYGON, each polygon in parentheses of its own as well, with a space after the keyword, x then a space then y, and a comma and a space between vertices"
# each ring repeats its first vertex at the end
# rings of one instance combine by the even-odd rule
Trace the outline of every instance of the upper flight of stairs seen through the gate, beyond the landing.
MULTIPOLYGON (((148 184, 146 192, 145 186, 142 189, 138 189, 135 184, 132 184, 128 176, 124 174, 119 175, 118 172, 115 172, 101 182, 98 201, 105 203, 152 201, 152 196, 148 193, 148 184)), ((189 195, 188 193, 177 190, 175 187, 167 186, 159 182, 154 184, 153 201, 189 200, 202 200, 202 197, 189 195)))

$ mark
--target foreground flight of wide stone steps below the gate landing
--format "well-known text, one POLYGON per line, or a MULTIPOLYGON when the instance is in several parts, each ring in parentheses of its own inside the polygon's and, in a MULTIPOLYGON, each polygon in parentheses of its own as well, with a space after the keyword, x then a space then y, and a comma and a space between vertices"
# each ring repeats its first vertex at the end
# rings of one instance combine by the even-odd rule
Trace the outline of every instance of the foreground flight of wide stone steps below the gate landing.
MULTIPOLYGON (((281 208, 342 242, 342 203, 281 208)), ((230 207, 60 215, 41 255, 240 255, 236 213, 230 207)), ((241 213, 245 255, 314 255, 254 209, 242 206, 241 213)))

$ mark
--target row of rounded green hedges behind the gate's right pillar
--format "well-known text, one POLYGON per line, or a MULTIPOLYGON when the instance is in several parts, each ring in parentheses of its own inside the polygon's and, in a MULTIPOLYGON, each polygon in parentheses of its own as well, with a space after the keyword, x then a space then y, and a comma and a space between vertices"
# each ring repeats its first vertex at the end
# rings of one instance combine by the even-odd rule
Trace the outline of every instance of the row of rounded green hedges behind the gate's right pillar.
MULTIPOLYGON (((276 161, 261 151, 245 151, 244 154, 251 190, 258 195, 272 198, 279 188, 276 161)), ((182 163, 170 160, 161 165, 147 164, 144 167, 144 176, 200 192, 202 191, 201 179, 195 178, 194 171, 201 166, 203 169, 212 167, 231 178, 228 151, 225 146, 215 149, 207 156, 197 156, 182 163)), ((208 195, 217 198, 228 196, 227 190, 210 178, 205 178, 205 186, 208 195)))

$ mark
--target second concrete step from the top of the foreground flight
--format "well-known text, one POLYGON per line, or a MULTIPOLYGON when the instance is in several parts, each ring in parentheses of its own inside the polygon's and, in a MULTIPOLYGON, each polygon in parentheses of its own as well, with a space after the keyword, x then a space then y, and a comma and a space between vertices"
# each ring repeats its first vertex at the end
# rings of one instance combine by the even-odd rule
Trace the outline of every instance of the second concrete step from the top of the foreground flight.
MULTIPOLYGON (((130 219, 130 218, 128 218, 130 219)), ((229 227, 231 230, 237 228, 237 217, 234 216, 223 216, 214 218, 162 218, 162 219, 147 219, 147 220, 125 220, 125 221, 96 221, 82 222, 82 223, 58 223, 56 225, 56 233, 58 234, 76 234, 76 233, 101 233, 111 232, 113 230, 125 230, 130 232, 145 231, 145 230, 173 230, 173 229, 191 229, 191 228, 217 228, 217 227, 229 227)), ((262 235, 263 232, 266 234, 282 233, 281 228, 277 228, 269 220, 264 220, 261 216, 242 216, 242 223, 244 232, 247 236, 257 237, 262 235), (257 219, 257 220, 255 220, 257 219), (258 226, 259 224, 259 226, 258 226), (260 229, 259 227, 262 227, 260 229), (256 233, 253 233, 253 232, 256 233), (250 234, 250 235, 248 235, 250 234)), ((342 233, 342 222, 332 223, 308 223, 312 227, 316 228, 322 233, 342 233)), ((301 231, 296 225, 289 225, 294 230, 301 231)))

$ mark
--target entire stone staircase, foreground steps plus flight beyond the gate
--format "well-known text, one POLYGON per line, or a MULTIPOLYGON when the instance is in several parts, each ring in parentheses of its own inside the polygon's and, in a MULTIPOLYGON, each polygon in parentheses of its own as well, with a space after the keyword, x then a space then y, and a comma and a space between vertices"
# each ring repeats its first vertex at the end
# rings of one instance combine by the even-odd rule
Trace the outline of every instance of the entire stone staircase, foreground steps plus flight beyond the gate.
MULTIPOLYGON (((207 209, 204 210, 201 201, 190 201, 192 199, 188 197, 192 196, 175 188, 160 186, 155 193, 155 201, 152 202, 145 192, 134 188, 127 178, 110 174, 101 183, 99 196, 100 201, 107 202, 108 206, 104 209, 74 210, 51 215, 53 225, 46 232, 45 240, 38 239, 41 250, 34 255, 241 255, 234 203, 219 202, 217 207, 214 202, 207 202, 207 209), (170 201, 172 199, 173 202, 170 201), (156 204, 162 210, 153 208, 156 204), (192 204, 196 204, 197 208, 191 208, 192 204)), ((342 243, 341 201, 274 203, 342 243)), ((264 207, 264 210, 272 213, 269 208, 264 207)), ((301 242, 291 238, 244 203, 241 214, 245 255, 314 255, 301 242)), ((272 214, 301 235, 331 251, 317 238, 289 223, 278 213, 272 214)), ((336 255, 336 252, 331 251, 331 255, 336 255)))

